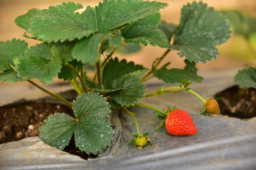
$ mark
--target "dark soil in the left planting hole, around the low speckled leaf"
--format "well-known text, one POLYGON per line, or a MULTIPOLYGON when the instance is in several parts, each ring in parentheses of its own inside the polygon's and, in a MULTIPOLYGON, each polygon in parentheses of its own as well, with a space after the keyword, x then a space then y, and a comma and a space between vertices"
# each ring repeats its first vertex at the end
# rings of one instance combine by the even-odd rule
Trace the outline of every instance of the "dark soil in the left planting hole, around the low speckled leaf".
MULTIPOLYGON (((25 103, 14 106, 4 106, 0 108, 0 144, 18 141, 31 136, 38 136, 44 119, 54 113, 67 113, 73 115, 72 109, 65 105, 52 105, 45 103, 25 103)), ((96 157, 87 155, 76 147, 74 136, 70 140, 64 151, 83 159, 96 157)))

